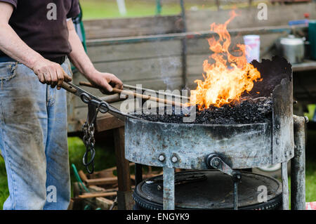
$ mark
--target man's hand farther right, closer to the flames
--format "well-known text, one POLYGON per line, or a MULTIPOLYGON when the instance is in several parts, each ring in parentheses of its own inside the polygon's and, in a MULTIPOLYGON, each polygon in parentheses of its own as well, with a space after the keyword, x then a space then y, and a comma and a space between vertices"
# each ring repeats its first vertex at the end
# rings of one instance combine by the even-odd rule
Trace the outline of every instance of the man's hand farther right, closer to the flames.
POLYGON ((123 88, 123 83, 114 74, 95 71, 88 75, 91 84, 101 88, 102 93, 109 93, 114 88, 123 88))

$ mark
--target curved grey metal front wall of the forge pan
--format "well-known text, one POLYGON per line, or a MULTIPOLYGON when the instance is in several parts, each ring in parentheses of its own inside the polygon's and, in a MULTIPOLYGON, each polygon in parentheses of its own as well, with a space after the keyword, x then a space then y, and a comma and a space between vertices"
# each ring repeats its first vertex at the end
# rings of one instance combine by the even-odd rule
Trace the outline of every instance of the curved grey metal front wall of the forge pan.
POLYGON ((128 118, 125 131, 126 159, 139 164, 207 169, 205 159, 213 153, 232 169, 272 164, 269 123, 166 124, 128 118))

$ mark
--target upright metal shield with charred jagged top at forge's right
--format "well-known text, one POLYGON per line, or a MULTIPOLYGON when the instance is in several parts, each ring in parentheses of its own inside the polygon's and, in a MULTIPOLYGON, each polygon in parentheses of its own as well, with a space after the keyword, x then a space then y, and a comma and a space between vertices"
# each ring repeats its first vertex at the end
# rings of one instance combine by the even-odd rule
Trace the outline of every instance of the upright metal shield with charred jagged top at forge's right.
POLYGON ((250 94, 272 94, 272 164, 294 157, 293 78, 291 64, 275 56, 272 60, 252 62, 261 73, 262 81, 255 84, 250 94))

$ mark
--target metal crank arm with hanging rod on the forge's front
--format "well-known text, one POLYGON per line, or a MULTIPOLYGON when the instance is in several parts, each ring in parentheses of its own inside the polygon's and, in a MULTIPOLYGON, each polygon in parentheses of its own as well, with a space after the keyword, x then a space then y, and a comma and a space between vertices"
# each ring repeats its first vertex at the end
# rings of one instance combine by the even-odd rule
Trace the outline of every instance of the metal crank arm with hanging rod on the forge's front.
POLYGON ((234 183, 234 210, 238 210, 238 183, 242 180, 242 173, 231 169, 216 154, 209 154, 206 158, 206 164, 210 168, 218 169, 232 177, 232 182, 234 183))

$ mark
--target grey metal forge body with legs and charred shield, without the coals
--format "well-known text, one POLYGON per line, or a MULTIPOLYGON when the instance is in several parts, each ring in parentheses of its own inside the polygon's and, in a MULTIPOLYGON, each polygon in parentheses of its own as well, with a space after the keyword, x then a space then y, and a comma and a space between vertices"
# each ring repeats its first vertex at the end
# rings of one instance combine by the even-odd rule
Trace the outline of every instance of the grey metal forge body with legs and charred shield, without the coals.
MULTIPOLYGON (((213 167, 234 179, 239 177, 234 169, 278 163, 282 163, 283 209, 289 208, 287 162, 297 150, 304 148, 304 133, 300 129, 296 133, 299 143, 294 152, 294 120, 299 125, 305 119, 294 119, 292 71, 287 60, 275 57, 252 63, 261 72, 263 81, 256 82, 250 94, 272 95, 272 119, 265 123, 166 124, 126 117, 125 157, 137 164, 164 167, 164 209, 174 209, 175 168, 213 167)), ((296 163, 297 167, 302 165, 296 163)), ((299 192, 301 187, 299 182, 296 187, 299 192)), ((237 209, 237 181, 235 193, 237 209)))

